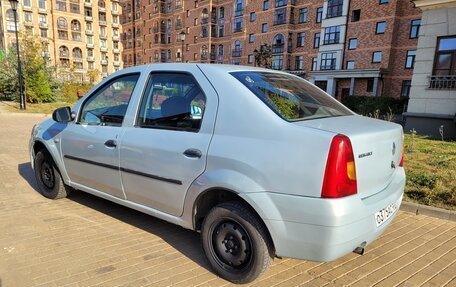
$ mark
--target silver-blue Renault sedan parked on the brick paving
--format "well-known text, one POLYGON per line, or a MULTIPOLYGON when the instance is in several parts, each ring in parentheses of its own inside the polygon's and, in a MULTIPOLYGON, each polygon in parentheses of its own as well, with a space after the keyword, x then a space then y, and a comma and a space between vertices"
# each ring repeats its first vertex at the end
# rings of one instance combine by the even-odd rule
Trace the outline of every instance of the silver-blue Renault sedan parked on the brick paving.
POLYGON ((198 231, 215 272, 246 283, 274 257, 362 253, 401 204, 402 143, 284 72, 154 64, 56 110, 30 154, 44 196, 78 189, 198 231))

